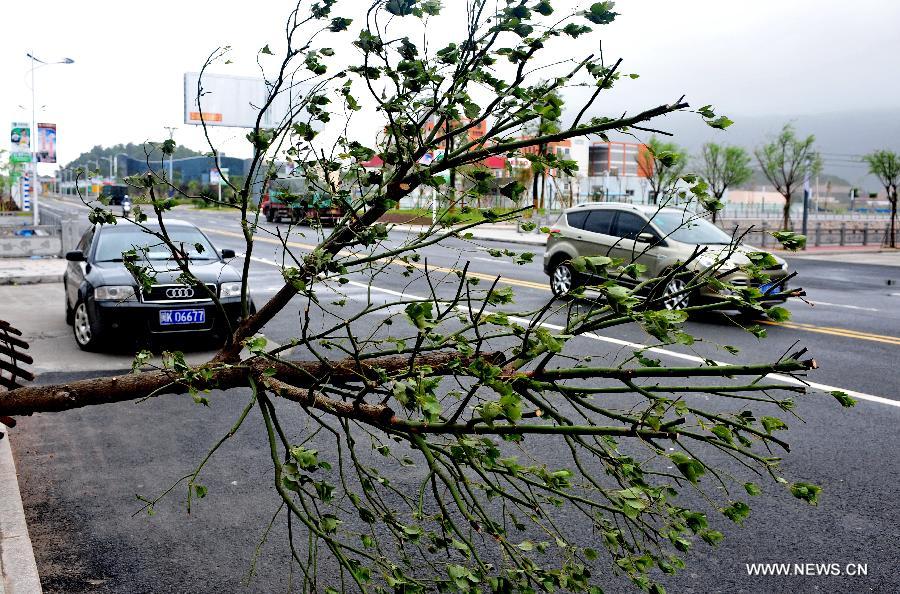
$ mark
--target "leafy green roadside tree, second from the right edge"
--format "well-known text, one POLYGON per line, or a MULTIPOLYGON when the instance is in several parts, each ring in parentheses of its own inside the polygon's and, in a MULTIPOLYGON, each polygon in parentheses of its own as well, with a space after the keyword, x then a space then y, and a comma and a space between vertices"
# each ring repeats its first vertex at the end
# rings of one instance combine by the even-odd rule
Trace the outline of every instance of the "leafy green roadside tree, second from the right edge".
POLYGON ((814 148, 815 136, 797 138, 794 127, 785 124, 781 133, 768 144, 753 151, 763 175, 775 191, 784 197, 784 211, 781 228, 785 231, 791 225, 791 199, 803 180, 822 169, 822 159, 814 148))

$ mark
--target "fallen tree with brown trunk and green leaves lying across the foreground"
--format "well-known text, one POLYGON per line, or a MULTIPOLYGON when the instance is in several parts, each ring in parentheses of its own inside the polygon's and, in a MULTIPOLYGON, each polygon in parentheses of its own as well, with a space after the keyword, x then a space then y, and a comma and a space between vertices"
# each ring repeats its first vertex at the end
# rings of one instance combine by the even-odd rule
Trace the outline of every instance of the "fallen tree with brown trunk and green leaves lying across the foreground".
MULTIPOLYGON (((785 319, 784 308, 764 308, 754 286, 730 284, 719 274, 737 242, 716 246, 715 262, 700 272, 686 266, 702 250, 654 278, 643 276, 646 267, 621 259, 576 258, 572 268, 593 275, 591 287, 602 299, 581 299, 584 290, 576 289, 574 301, 549 297, 517 304, 505 278, 473 274, 464 263, 470 253, 484 253, 470 247, 468 230, 477 223, 448 228, 445 210, 437 224, 400 241, 379 223, 419 187, 453 204, 457 189, 445 178, 450 169, 494 155, 522 157, 535 144, 627 132, 687 111, 681 93, 674 93, 671 103, 583 122, 579 115, 557 132, 521 138, 546 116, 553 93, 597 89, 583 104, 580 113, 586 114, 600 90, 611 88, 615 66, 604 66, 601 58, 558 60, 573 47, 571 38, 616 17, 612 3, 559 15, 548 0, 516 0, 501 3, 503 8, 494 0, 470 0, 465 20, 454 29, 453 21, 429 24, 439 16, 436 0, 378 0, 349 33, 358 2, 347 2, 353 12, 346 14, 337 14, 335 6, 334 0, 298 2, 287 22, 285 55, 276 61, 268 45, 259 51, 261 64, 273 64, 264 72, 271 95, 261 108, 265 112, 280 94, 291 94, 291 113, 274 128, 259 124, 261 113, 247 134, 249 173, 240 186, 226 180, 236 204, 201 198, 228 209, 244 238, 243 317, 221 350, 198 366, 171 353, 157 368, 148 368, 150 354, 142 352, 134 373, 18 388, 0 396, 0 415, 137 399, 152 405, 153 398, 171 393, 211 407, 223 398, 242 399, 233 428, 211 444, 195 472, 143 501, 152 512, 181 484, 188 509, 203 505, 204 497, 226 497, 203 484, 206 461, 235 432, 254 430, 244 420, 256 416, 260 423, 248 425, 260 431, 268 458, 256 476, 271 478, 278 495, 272 522, 287 524, 291 567, 284 574, 296 576, 300 583, 294 585, 304 592, 593 593, 621 591, 627 580, 659 594, 659 580, 684 567, 692 546, 715 545, 724 524, 747 518, 750 497, 761 493, 754 481, 815 503, 819 488, 788 486, 778 457, 788 447, 779 431, 787 425, 779 417, 795 414, 794 398, 806 392, 802 377, 816 366, 805 349, 769 362, 672 366, 648 348, 610 351, 591 339, 629 326, 655 346, 690 345, 688 316, 723 305, 785 319), (435 26, 455 41, 435 48, 427 35, 435 26), (531 73, 546 63, 545 53, 557 60, 558 76, 534 80, 531 73), (377 137, 349 125, 364 108, 364 117, 379 118, 377 137), (463 115, 466 124, 444 125, 463 115), (425 131, 432 119, 436 125, 425 131), (486 122, 484 136, 469 137, 467 127, 486 122), (452 148, 444 158, 423 162, 446 146, 452 148), (363 163, 376 154, 383 165, 366 168, 363 163), (306 230, 305 244, 292 241, 299 233, 293 228, 273 235, 258 225, 254 184, 264 192, 277 182, 283 158, 296 164, 293 175, 327 192, 346 212, 334 228, 306 230), (283 250, 283 283, 256 309, 249 267, 266 241, 283 250), (422 250, 435 245, 460 250, 459 265, 429 263, 422 250), (454 247, 459 245, 466 247, 454 247), (640 283, 635 287, 623 275, 640 283), (382 280, 402 284, 403 293, 384 292, 377 284, 382 280), (347 285, 360 284, 367 297, 345 293, 347 285), (710 284, 721 290, 721 301, 666 306, 673 296, 710 284), (679 288, 661 295, 659 286, 679 288), (295 334, 273 345, 261 334, 272 323, 295 328, 295 334), (796 385, 776 382, 772 373, 797 376, 789 380, 796 385), (305 421, 291 422, 286 410, 305 421)), ((228 55, 226 48, 214 51, 201 73, 228 55)), ((712 127, 722 126, 711 109, 697 113, 712 127)), ((683 166, 674 151, 658 148, 655 156, 668 175, 683 166)), ((212 144, 210 149, 216 153, 212 144)), ((545 168, 560 166, 553 153, 539 158, 545 168)), ((152 235, 148 240, 172 253, 183 282, 203 286, 164 225, 173 200, 158 187, 172 182, 155 171, 128 181, 150 195, 146 207, 133 209, 134 223, 144 224, 148 216, 160 221, 144 228, 152 235)), ((494 191, 492 180, 474 181, 465 192, 494 191)), ((704 195, 700 183, 685 184, 686 198, 704 195)), ((500 193, 518 198, 525 190, 510 182, 500 193)), ((92 222, 116 222, 107 206, 85 202, 92 222)), ((502 221, 516 213, 482 215, 502 221)), ((794 241, 788 234, 777 237, 794 241)), ((486 251, 511 265, 534 256, 486 251)), ((765 282, 774 258, 752 252, 746 259, 745 273, 765 282)), ((123 260, 137 283, 154 284, 153 271, 139 266, 135 250, 123 260)), ((215 292, 210 299, 221 305, 215 292)), ((748 330, 764 335, 758 326, 748 330)), ((734 347, 727 351, 737 355, 734 347)), ((157 517, 166 521, 166 515, 157 517)))

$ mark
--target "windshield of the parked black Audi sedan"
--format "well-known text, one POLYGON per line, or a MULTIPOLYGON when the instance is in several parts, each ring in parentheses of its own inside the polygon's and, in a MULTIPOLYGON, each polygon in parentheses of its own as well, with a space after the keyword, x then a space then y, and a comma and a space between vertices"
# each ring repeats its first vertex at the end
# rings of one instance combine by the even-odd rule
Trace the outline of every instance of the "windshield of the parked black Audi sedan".
MULTIPOLYGON (((192 260, 216 260, 217 256, 209 240, 198 229, 187 226, 170 226, 166 229, 172 242, 184 250, 192 260)), ((157 237, 137 227, 104 227, 100 232, 95 261, 121 262, 122 252, 137 250, 148 260, 171 260, 172 252, 157 237)))

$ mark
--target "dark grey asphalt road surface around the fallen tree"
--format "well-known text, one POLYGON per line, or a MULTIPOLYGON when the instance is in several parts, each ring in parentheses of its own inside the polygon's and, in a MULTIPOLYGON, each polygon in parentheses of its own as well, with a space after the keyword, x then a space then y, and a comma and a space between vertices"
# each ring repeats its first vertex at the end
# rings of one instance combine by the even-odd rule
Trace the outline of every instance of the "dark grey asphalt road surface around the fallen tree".
MULTIPOLYGON (((52 201, 51 206, 54 206, 52 201)), ((57 208, 77 209, 72 206, 57 208)), ((203 228, 217 247, 243 249, 238 228, 217 212, 184 211, 178 215, 203 228)), ((287 226, 266 225, 274 232, 287 226)), ((251 265, 251 291, 260 303, 278 289, 281 258, 277 239, 261 236, 251 265)), ((389 244, 403 241, 392 234, 389 244)), ((313 237, 292 237, 297 244, 313 237)), ((302 248, 298 248, 302 249, 302 248)), ((541 248, 459 240, 420 250, 437 275, 455 278, 451 269, 466 261, 483 283, 502 275, 512 286, 519 308, 533 308, 549 297, 540 267, 541 248), (488 248, 533 251, 535 262, 516 265, 498 260, 488 248)), ((689 323, 704 341, 692 347, 667 347, 666 362, 684 357, 731 358, 715 344, 741 349, 740 360, 769 360, 799 345, 810 348, 820 369, 810 380, 828 389, 861 393, 857 406, 839 408, 830 396, 813 392, 799 399, 798 414, 788 438, 793 446, 784 465, 792 480, 821 484, 818 507, 806 504, 768 485, 767 497, 754 501, 743 528, 728 527, 726 540, 716 549, 698 547, 688 569, 664 580, 670 592, 896 592, 900 591, 900 527, 894 508, 900 470, 897 426, 900 421, 900 374, 896 350, 900 346, 900 269, 820 260, 790 259, 798 271, 797 284, 808 292, 809 303, 792 302, 791 322, 767 326, 769 337, 758 341, 736 324, 746 320, 724 315, 705 316, 689 323), (865 397, 874 397, 866 399, 865 397), (884 399, 879 400, 879 399, 884 399), (746 563, 867 564, 865 577, 748 576, 746 563)), ((396 293, 424 294, 421 280, 390 270, 374 281, 377 298, 396 293)), ((354 281, 365 283, 364 278, 354 281)), ((344 288, 352 309, 369 298, 363 286, 344 288)), ((52 307, 50 311, 61 311, 52 307)), ((295 335, 296 308, 266 327, 276 341, 295 335)), ((620 342, 648 343, 639 328, 617 327, 610 337, 579 338, 579 352, 614 356, 620 342), (606 339, 606 340, 604 340, 606 339)), ((74 341, 71 349, 76 349, 74 341)), ((90 370, 85 370, 90 374, 90 370)), ((80 374, 79 374, 80 375, 80 374)), ((74 374, 44 374, 41 381, 57 382, 74 374)), ((259 415, 214 458, 206 476, 210 496, 187 515, 183 501, 167 501, 153 517, 132 514, 139 508, 135 493, 149 495, 165 489, 189 472, 215 439, 227 431, 247 394, 233 390, 214 394, 210 410, 188 398, 161 398, 152 403, 124 403, 23 419, 13 447, 20 471, 23 499, 35 554, 47 591, 285 591, 289 558, 283 530, 273 529, 256 564, 256 577, 242 582, 251 565, 254 547, 271 514, 276 497, 271 489, 271 464, 260 433, 259 415)), ((294 414, 286 411, 285 414, 294 414)), ((297 423, 302 419, 297 417, 297 423)), ((555 454, 549 452, 548 456, 555 454)), ((574 526, 573 530, 579 530, 574 526)), ((610 578, 618 591, 621 581, 610 578)))

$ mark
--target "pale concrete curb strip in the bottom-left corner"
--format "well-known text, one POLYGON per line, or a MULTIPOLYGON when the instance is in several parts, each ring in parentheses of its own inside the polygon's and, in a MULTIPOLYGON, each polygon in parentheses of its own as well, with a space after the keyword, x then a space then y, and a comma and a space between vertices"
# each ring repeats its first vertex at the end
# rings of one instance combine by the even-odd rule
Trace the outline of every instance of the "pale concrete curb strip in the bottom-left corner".
POLYGON ((0 439, 0 594, 42 592, 34 549, 25 523, 9 430, 0 439))

